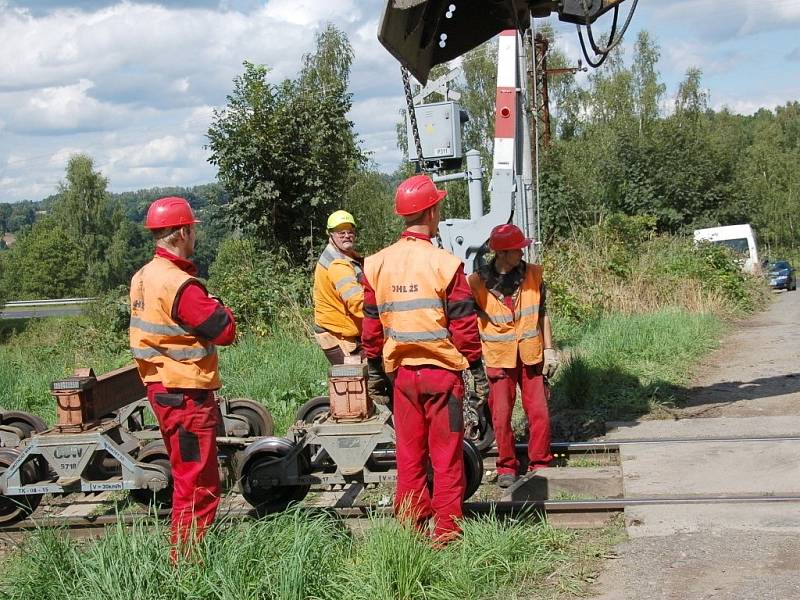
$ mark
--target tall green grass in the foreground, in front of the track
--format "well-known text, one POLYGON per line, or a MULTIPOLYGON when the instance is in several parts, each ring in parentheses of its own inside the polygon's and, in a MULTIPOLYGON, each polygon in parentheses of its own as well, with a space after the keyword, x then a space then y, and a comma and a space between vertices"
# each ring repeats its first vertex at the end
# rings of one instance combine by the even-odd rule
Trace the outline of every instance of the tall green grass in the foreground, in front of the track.
POLYGON ((7 558, 9 600, 205 599, 464 600, 543 598, 580 591, 586 561, 608 536, 495 517, 464 523, 463 539, 434 550, 393 519, 352 534, 332 517, 289 511, 216 525, 193 562, 167 559, 165 525, 112 527, 97 541, 40 530, 7 558))

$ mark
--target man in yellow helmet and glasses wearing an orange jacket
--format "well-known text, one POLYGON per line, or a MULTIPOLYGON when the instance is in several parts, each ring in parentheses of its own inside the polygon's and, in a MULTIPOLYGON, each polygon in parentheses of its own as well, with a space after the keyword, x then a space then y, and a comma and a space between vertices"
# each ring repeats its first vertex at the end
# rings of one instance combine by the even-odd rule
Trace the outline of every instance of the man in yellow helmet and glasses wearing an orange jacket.
POLYGON ((362 357, 363 260, 355 250, 353 215, 337 210, 328 217, 328 245, 314 269, 314 337, 332 365, 362 357))

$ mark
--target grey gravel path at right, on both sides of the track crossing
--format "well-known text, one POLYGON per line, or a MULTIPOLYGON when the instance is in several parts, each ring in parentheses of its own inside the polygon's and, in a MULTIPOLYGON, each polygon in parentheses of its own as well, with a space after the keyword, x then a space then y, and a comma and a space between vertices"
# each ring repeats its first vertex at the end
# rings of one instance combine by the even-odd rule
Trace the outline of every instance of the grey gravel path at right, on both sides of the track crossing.
MULTIPOLYGON (((800 415, 800 293, 737 325, 700 366, 681 418, 800 415)), ((798 432, 800 433, 800 432, 798 432)), ((800 461, 800 457, 798 457, 800 461)), ((690 468, 690 467, 689 467, 690 468)), ((630 539, 598 600, 800 598, 796 533, 715 531, 630 539)))

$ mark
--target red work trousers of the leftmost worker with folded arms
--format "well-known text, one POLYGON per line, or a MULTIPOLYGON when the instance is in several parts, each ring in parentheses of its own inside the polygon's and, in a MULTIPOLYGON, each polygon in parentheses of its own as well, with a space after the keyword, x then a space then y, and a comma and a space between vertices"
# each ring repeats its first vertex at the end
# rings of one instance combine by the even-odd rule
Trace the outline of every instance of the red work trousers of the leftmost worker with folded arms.
POLYGON ((166 391, 147 386, 172 466, 172 559, 187 542, 200 540, 214 521, 222 488, 217 463, 217 426, 222 415, 209 390, 166 391))

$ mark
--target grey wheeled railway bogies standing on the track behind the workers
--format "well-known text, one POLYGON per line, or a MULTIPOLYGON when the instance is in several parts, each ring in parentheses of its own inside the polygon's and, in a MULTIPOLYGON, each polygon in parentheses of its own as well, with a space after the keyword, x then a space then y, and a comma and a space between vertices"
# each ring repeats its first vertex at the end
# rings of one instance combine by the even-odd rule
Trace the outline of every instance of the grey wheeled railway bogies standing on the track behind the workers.
MULTIPOLYGON (((52 391, 58 423, 50 429, 32 415, 2 413, 11 424, 0 426, 0 526, 26 518, 44 494, 128 490, 137 502, 171 505, 169 456, 135 367, 99 377, 80 370, 54 382, 52 391)), ((312 404, 310 422, 298 420, 285 437, 274 437, 263 405, 220 398, 224 487, 238 487, 258 515, 284 510, 311 489, 396 481, 388 408, 369 403, 366 416, 341 418, 320 399, 312 404)), ((468 498, 480 485, 483 464, 469 440, 464 457, 468 498)))

